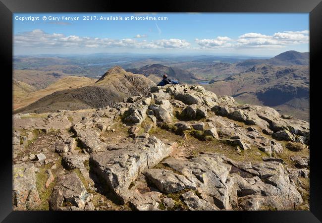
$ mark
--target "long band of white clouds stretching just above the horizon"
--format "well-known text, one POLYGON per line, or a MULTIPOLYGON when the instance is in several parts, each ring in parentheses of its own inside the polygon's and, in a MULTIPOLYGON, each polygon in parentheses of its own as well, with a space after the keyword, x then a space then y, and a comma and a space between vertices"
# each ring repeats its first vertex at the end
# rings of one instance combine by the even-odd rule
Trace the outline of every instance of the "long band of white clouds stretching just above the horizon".
MULTIPOLYGON (((156 24, 157 25, 157 24, 156 24)), ((161 31, 161 30, 160 30, 161 31)), ((309 43, 309 31, 284 31, 271 35, 261 33, 245 33, 237 39, 217 36, 214 39, 195 39, 191 45, 184 39, 160 39, 147 41, 145 34, 137 34, 134 38, 109 39, 97 37, 65 36, 61 33, 45 33, 35 29, 18 33, 14 36, 16 48, 133 48, 133 49, 237 49, 237 48, 283 48, 297 44, 309 43)))

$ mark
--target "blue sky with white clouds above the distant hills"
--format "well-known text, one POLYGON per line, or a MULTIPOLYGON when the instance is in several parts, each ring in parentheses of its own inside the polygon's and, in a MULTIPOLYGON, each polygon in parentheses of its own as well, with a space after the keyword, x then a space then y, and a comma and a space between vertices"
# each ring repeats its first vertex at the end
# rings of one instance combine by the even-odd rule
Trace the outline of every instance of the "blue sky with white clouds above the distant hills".
POLYGON ((14 13, 13 41, 15 56, 275 56, 309 52, 309 13, 14 13))

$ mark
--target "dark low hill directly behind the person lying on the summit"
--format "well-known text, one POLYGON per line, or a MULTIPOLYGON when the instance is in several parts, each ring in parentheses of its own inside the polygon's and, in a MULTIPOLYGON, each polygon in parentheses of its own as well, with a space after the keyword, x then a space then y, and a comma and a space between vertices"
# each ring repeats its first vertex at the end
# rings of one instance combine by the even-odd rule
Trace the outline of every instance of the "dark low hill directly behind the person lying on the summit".
POLYGON ((135 74, 143 74, 155 82, 162 79, 163 74, 167 74, 170 79, 176 79, 180 83, 194 83, 196 81, 204 80, 196 74, 172 66, 164 66, 162 64, 151 64, 143 66, 139 69, 127 69, 126 71, 135 74))

